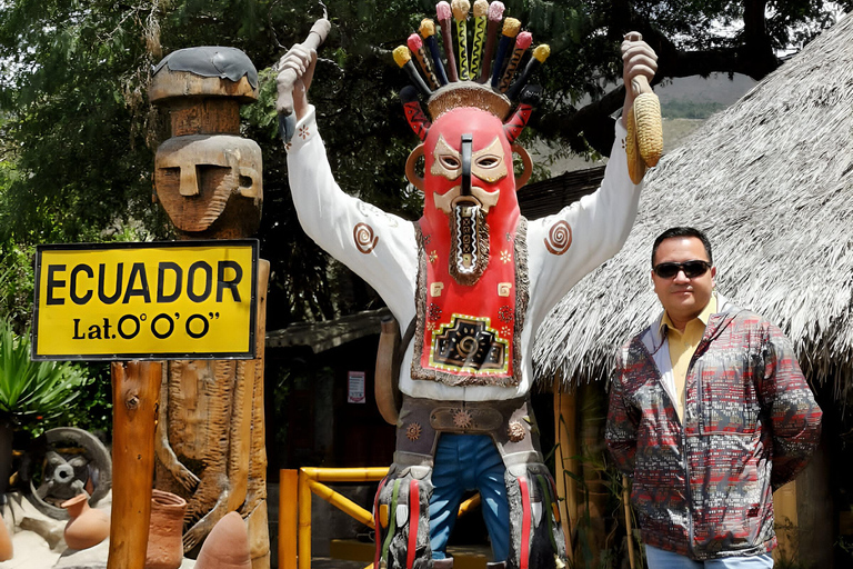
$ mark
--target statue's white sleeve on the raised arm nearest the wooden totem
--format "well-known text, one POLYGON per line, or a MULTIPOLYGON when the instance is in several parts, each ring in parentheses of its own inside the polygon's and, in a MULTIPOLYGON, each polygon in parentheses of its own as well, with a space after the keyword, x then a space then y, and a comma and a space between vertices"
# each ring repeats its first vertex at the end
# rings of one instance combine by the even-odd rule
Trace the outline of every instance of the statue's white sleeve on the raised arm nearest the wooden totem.
POLYGON ((313 106, 297 123, 285 149, 290 190, 302 229, 373 287, 404 326, 414 316, 418 277, 412 222, 341 190, 318 132, 313 106))

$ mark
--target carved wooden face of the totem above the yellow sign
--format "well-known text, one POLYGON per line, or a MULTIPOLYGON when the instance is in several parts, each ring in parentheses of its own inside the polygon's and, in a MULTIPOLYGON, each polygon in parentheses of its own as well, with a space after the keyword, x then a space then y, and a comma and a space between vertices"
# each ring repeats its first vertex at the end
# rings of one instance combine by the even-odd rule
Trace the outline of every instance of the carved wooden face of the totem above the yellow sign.
POLYGON ((175 229, 192 238, 242 238, 260 224, 261 149, 234 136, 173 137, 154 159, 157 197, 175 229))

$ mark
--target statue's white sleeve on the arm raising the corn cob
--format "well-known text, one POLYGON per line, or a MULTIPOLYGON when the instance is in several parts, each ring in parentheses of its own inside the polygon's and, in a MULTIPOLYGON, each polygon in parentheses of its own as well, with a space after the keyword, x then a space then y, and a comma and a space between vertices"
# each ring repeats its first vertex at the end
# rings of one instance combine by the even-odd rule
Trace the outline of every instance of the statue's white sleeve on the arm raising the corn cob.
POLYGON ((531 277, 530 317, 534 326, 566 292, 628 239, 636 217, 642 182, 628 174, 626 131, 615 121, 615 141, 601 187, 560 212, 528 224, 531 277))

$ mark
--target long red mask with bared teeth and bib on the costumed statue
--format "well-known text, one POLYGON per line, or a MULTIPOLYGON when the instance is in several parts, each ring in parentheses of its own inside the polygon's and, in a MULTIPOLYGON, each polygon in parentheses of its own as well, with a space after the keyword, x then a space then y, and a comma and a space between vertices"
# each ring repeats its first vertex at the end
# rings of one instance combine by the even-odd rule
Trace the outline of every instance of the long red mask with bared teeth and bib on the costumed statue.
POLYGON ((412 377, 516 385, 526 248, 523 236, 516 240, 521 214, 510 137, 494 113, 456 107, 429 126, 423 154, 412 377))

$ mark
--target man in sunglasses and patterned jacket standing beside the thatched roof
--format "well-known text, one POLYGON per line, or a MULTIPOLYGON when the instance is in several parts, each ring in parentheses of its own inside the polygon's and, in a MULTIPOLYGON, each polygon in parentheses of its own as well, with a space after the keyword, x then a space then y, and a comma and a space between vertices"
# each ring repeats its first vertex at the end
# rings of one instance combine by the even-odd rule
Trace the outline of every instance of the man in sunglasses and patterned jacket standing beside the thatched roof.
POLYGON ((782 331, 715 292, 711 243, 652 248, 663 313, 618 357, 606 441, 633 478, 649 567, 771 568, 773 496, 805 467, 821 410, 782 331))

